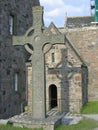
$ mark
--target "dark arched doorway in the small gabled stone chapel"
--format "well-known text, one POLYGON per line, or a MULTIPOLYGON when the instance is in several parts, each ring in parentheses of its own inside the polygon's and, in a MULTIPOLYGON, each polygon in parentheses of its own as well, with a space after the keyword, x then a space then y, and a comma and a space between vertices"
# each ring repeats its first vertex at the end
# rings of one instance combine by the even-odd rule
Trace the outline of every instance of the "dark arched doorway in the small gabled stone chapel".
POLYGON ((49 98, 50 98, 50 108, 57 106, 57 87, 52 84, 49 86, 49 98))

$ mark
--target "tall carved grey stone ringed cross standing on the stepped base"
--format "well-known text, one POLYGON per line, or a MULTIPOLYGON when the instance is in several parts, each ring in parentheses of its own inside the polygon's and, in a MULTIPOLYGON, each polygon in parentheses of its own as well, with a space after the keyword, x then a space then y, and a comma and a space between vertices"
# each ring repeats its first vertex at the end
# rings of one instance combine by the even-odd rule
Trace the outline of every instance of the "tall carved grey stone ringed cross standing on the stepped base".
MULTIPOLYGON (((24 36, 13 36, 13 45, 24 45, 31 54, 32 61, 32 117, 44 119, 45 110, 45 63, 44 46, 55 43, 64 43, 63 34, 44 35, 43 7, 33 7, 33 26, 27 30, 24 36)), ((48 50, 50 47, 48 48, 48 50)))

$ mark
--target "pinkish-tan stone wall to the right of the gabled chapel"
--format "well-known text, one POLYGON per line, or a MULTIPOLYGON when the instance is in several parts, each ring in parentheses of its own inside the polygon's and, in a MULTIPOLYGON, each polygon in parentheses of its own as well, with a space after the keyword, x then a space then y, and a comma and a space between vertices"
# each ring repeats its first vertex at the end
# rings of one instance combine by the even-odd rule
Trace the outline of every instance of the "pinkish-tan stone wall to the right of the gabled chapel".
POLYGON ((74 45, 88 68, 88 100, 98 100, 98 27, 60 29, 74 45))

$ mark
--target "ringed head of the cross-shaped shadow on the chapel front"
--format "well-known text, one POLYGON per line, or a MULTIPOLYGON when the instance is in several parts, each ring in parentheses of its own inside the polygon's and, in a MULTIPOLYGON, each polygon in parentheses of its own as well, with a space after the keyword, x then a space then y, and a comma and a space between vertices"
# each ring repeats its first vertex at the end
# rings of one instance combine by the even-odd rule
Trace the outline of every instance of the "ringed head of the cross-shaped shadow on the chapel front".
POLYGON ((81 67, 73 67, 73 64, 67 59, 67 49, 61 49, 62 59, 56 66, 56 68, 48 68, 48 72, 52 71, 56 73, 57 77, 61 80, 69 80, 73 74, 81 71, 81 67))

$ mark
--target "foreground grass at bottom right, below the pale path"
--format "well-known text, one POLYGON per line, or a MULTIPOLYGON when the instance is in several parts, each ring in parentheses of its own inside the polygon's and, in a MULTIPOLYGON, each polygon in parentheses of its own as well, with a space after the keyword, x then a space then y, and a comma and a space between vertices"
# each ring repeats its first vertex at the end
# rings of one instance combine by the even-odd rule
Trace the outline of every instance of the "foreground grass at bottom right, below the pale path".
POLYGON ((60 125, 55 130, 94 130, 94 128, 98 128, 98 121, 84 118, 76 125, 60 125))

